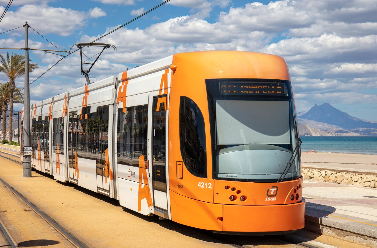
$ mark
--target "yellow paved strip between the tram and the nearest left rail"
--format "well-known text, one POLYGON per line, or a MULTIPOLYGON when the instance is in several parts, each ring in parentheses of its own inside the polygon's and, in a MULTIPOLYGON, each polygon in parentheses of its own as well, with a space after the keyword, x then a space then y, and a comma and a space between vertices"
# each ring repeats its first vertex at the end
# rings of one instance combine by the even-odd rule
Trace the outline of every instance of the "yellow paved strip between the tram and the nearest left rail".
POLYGON ((0 177, 89 247, 230 247, 80 187, 34 171, 32 176, 23 178, 20 164, 0 157, 0 177))

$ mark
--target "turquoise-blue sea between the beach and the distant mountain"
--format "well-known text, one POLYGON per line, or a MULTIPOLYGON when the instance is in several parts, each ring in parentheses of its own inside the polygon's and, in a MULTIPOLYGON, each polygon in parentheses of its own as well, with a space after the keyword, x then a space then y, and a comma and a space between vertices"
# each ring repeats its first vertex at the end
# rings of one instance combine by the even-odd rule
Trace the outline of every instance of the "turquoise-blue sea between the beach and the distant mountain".
POLYGON ((300 136, 301 151, 377 155, 377 136, 300 136))

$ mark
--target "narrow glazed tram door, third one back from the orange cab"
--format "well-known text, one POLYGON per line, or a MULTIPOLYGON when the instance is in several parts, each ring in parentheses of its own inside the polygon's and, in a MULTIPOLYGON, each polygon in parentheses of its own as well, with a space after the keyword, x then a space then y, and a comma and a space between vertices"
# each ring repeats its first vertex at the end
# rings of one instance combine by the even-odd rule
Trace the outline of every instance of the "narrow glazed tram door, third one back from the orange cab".
POLYGON ((77 111, 68 115, 68 170, 69 180, 78 184, 78 164, 77 164, 77 111))

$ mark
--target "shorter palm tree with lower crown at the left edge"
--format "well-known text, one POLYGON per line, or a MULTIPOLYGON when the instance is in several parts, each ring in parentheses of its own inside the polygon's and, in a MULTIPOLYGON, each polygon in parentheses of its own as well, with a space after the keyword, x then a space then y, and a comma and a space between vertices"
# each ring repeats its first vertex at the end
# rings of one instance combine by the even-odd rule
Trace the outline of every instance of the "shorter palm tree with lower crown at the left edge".
MULTIPOLYGON (((8 110, 8 104, 11 99, 11 90, 10 90, 10 82, 0 84, 0 117, 3 116, 3 140, 5 140, 5 132, 6 132, 6 111, 8 110)), ((20 92, 20 89, 15 88, 17 91, 13 96, 13 101, 15 103, 24 103, 23 94, 20 92)), ((9 114, 9 116, 11 116, 9 114)), ((12 122, 12 117, 9 118, 9 122, 12 122)), ((12 129, 9 129, 12 130, 12 129)), ((9 132, 9 136, 12 139, 12 131, 9 132)))

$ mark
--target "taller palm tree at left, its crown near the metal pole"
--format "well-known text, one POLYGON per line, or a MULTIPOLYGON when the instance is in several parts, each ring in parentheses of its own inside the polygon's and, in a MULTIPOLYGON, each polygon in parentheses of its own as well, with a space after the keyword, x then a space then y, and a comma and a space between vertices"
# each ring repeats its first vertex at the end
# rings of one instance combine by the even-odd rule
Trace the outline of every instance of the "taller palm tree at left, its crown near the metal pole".
MULTIPOLYGON (((9 56, 9 52, 6 53, 6 59, 2 54, 0 54, 0 71, 4 72, 9 78, 10 85, 10 100, 9 100, 9 116, 13 116, 13 103, 14 103, 14 92, 16 89, 15 80, 22 75, 25 75, 25 56, 21 54, 14 54, 9 56)), ((31 59, 29 59, 31 61, 31 59)), ((29 63, 29 72, 32 72, 34 69, 37 69, 37 63, 29 63)), ((20 93, 20 92, 18 92, 20 93)), ((9 130, 12 129, 12 122, 9 122, 9 130)), ((9 142, 12 141, 12 135, 9 135, 9 142)))

